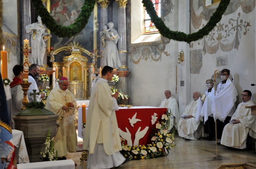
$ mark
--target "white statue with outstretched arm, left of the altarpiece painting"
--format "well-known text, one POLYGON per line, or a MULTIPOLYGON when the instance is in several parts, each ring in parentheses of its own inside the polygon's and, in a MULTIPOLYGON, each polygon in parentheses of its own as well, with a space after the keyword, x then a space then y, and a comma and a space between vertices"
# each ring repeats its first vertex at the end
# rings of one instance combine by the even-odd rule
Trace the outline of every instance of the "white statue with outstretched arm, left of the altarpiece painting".
POLYGON ((26 32, 31 34, 31 63, 42 65, 46 46, 44 41, 52 37, 52 35, 45 32, 46 27, 42 24, 40 16, 38 16, 37 20, 38 22, 26 26, 26 32))

